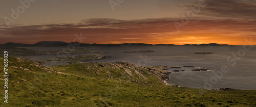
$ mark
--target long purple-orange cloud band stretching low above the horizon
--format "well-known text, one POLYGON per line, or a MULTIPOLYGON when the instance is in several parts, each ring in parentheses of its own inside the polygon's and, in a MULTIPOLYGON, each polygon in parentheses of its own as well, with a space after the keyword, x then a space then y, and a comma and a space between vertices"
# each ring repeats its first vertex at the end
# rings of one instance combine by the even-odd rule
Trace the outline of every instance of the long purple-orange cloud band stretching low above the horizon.
POLYGON ((180 28, 179 33, 174 22, 181 22, 181 19, 94 18, 82 20, 79 23, 0 26, 0 43, 36 43, 42 40, 73 42, 74 34, 80 33, 88 37, 84 43, 117 43, 116 41, 123 43, 130 40, 130 42, 137 43, 172 43, 175 42, 175 38, 183 37, 189 40, 191 37, 211 39, 209 36, 213 35, 216 37, 220 35, 251 36, 255 34, 256 26, 255 20, 248 19, 203 20, 195 18, 191 19, 184 28, 180 28))

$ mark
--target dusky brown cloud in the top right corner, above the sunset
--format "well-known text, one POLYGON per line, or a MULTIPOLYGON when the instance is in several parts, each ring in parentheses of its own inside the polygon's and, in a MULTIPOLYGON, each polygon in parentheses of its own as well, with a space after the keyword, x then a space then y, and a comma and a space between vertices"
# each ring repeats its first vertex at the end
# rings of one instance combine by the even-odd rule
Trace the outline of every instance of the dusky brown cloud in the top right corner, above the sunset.
MULTIPOLYGON (((199 15, 215 18, 256 18, 256 1, 254 0, 205 0, 205 7, 201 7, 199 15)), ((181 9, 190 10, 190 6, 198 5, 198 2, 189 5, 177 5, 181 9)))

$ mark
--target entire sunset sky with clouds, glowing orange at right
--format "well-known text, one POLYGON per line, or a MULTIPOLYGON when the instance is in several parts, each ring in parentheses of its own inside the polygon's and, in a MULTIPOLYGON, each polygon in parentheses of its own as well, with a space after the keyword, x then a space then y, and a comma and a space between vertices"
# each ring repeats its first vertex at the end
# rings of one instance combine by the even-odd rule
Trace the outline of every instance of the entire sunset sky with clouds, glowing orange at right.
POLYGON ((255 19, 256 0, 2 0, 0 44, 244 45, 255 19))

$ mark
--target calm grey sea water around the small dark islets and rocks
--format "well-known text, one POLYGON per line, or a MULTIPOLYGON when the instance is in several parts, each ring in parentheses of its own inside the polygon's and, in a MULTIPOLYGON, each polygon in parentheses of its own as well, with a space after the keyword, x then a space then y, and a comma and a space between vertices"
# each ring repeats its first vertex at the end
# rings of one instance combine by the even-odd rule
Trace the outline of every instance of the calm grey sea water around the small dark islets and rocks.
MULTIPOLYGON (((40 51, 59 50, 66 47, 25 47, 40 51)), ((248 51, 243 51, 243 46, 113 46, 113 47, 82 47, 99 51, 99 55, 110 56, 102 60, 89 62, 115 62, 125 61, 141 66, 196 66, 215 71, 192 72, 191 69, 182 67, 179 69, 168 69, 168 84, 180 85, 190 88, 233 88, 244 90, 256 90, 256 46, 248 51), (123 51, 154 50, 154 52, 123 51), (213 52, 212 54, 199 55, 195 52, 213 52), (238 52, 239 51, 239 52, 238 52), (239 56, 240 55, 240 56, 239 56), (234 64, 236 61, 236 64, 234 64), (232 65, 233 64, 233 65, 232 65), (221 67, 226 66, 228 72, 221 72, 221 67), (174 72, 173 70, 185 70, 174 72)), ((247 46, 248 48, 248 46, 247 46)), ((93 54, 93 53, 90 53, 93 54)), ((80 53, 61 56, 77 56, 80 53)), ((57 55, 18 56, 32 60, 45 60, 59 57, 57 55)), ((50 62, 44 66, 50 65, 50 62)), ((59 62, 59 65, 67 64, 59 62)))

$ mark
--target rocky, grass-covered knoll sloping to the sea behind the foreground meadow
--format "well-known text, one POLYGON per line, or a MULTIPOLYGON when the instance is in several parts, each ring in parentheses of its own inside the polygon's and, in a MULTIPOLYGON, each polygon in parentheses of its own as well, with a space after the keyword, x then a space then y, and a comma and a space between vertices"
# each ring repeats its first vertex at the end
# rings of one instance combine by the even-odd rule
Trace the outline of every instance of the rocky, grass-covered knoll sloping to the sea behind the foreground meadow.
POLYGON ((141 84, 163 84, 168 72, 151 67, 140 67, 126 62, 85 63, 76 65, 53 66, 51 69, 82 77, 115 78, 125 82, 141 84))

